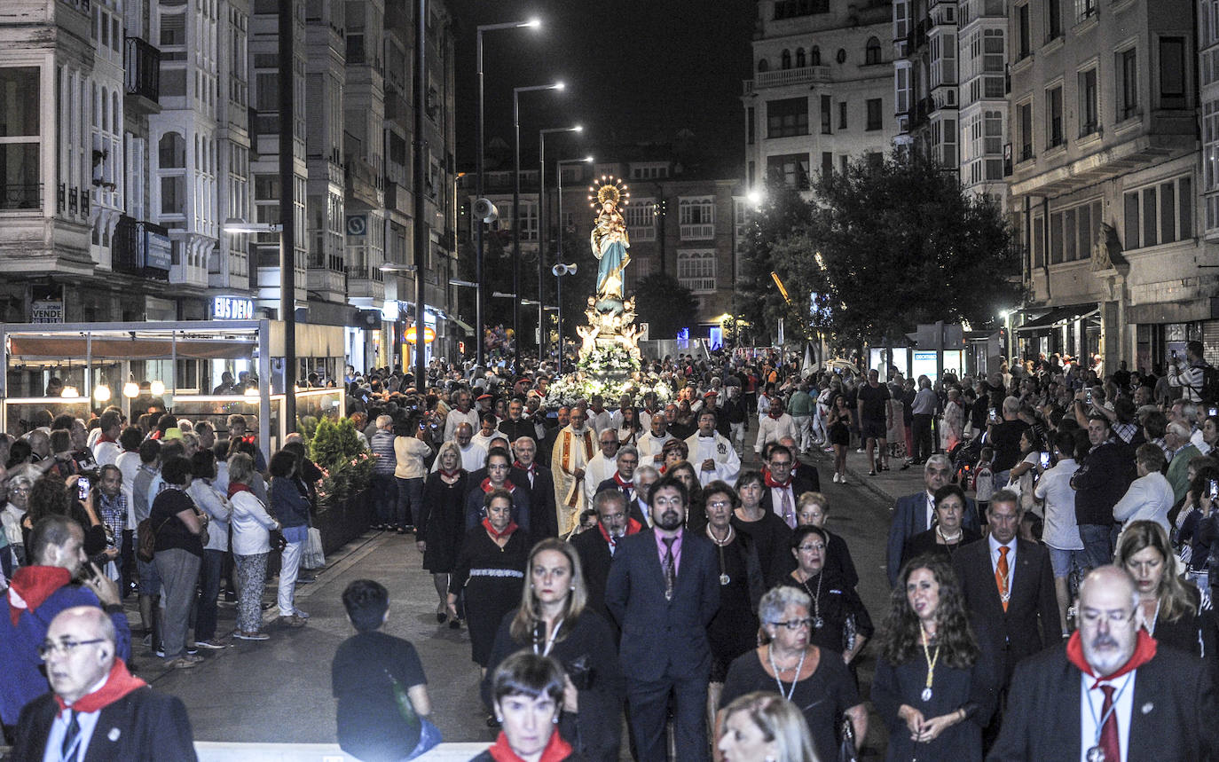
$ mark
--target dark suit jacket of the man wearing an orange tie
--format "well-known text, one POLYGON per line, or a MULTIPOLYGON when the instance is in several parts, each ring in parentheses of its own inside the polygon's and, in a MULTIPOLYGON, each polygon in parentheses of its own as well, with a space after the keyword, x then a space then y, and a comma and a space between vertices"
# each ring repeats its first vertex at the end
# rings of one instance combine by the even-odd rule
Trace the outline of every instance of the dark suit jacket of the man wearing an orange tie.
POLYGON ((1000 669, 1001 685, 1008 684, 1012 669, 1022 658, 1062 640, 1050 552, 1036 543, 1019 538, 1015 543, 1007 611, 1003 611, 995 584, 990 540, 983 538, 970 543, 952 556, 952 568, 965 595, 965 611, 978 645, 1000 669))

